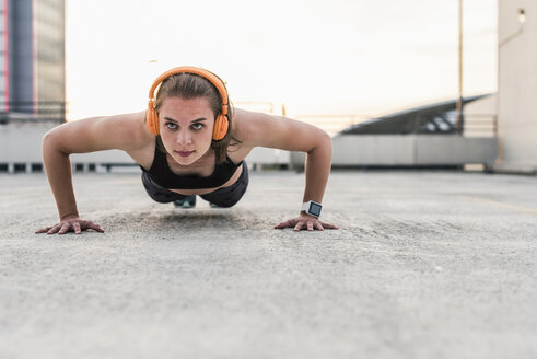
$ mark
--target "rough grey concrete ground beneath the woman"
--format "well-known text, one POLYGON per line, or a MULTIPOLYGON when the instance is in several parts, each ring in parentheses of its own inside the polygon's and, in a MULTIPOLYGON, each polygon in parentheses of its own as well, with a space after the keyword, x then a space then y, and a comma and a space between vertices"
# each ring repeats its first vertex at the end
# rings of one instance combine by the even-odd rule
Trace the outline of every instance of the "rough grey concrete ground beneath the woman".
POLYGON ((159 205, 139 174, 77 174, 56 222, 43 174, 0 175, 0 358, 536 358, 537 178, 253 173, 232 209, 159 205))

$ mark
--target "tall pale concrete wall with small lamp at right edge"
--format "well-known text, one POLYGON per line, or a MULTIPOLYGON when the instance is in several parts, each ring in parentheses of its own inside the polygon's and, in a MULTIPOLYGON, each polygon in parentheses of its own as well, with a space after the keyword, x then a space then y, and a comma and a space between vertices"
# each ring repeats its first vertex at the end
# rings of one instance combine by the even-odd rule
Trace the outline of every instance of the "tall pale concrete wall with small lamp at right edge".
POLYGON ((498 169, 537 171, 537 1, 499 1, 498 169), (520 20, 524 10, 525 22, 520 20))

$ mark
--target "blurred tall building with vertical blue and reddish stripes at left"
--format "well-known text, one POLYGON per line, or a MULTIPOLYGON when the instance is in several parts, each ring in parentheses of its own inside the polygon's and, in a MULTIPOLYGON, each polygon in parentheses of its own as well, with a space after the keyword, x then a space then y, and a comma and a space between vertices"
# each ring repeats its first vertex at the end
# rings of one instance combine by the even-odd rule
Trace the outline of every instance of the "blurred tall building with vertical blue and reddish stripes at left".
POLYGON ((65 120, 65 0, 0 0, 0 121, 65 120))

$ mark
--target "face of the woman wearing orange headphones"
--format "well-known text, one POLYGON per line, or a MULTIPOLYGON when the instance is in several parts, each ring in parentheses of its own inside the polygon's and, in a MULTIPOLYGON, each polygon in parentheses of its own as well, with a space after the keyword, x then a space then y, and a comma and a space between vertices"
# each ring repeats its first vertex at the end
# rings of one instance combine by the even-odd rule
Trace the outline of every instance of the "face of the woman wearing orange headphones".
POLYGON ((165 97, 159 128, 167 153, 179 164, 199 160, 211 148, 214 114, 207 97, 165 97))

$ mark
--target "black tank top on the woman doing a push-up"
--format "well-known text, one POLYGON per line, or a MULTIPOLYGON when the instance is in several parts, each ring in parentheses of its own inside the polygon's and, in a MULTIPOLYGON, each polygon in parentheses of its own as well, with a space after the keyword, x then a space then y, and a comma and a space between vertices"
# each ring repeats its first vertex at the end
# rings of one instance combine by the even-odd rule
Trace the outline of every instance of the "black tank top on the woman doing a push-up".
POLYGON ((148 173, 149 177, 157 185, 167 189, 199 189, 199 188, 214 188, 222 186, 224 183, 235 173, 236 169, 243 163, 233 163, 229 157, 220 164, 214 165, 214 171, 208 177, 198 175, 177 175, 170 170, 166 160, 166 153, 159 150, 155 146, 155 154, 153 158, 153 164, 148 173))

